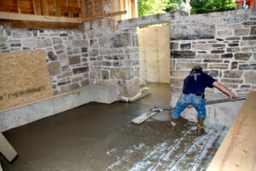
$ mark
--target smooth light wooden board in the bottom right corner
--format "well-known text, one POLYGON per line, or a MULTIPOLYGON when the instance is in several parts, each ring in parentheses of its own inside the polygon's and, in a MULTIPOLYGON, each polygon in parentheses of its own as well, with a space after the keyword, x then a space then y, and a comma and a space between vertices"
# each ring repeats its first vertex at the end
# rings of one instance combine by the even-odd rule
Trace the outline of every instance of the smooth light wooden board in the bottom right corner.
POLYGON ((256 91, 247 96, 208 171, 256 170, 256 91))

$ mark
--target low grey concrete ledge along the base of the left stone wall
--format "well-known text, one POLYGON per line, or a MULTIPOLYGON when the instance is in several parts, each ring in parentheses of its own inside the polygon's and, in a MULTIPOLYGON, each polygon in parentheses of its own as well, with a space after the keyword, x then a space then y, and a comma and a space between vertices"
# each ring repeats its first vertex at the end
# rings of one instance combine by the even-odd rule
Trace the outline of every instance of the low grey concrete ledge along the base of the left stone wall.
POLYGON ((119 100, 116 87, 90 85, 71 93, 0 111, 0 131, 16 128, 90 102, 110 104, 119 100))

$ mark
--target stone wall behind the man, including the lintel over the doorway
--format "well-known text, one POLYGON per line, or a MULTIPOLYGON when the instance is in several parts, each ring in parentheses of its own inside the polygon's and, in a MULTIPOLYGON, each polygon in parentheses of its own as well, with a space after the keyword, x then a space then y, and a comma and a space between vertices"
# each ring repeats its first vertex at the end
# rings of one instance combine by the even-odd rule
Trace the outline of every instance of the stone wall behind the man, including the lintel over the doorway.
MULTIPOLYGON (((171 23, 171 88, 179 94, 183 78, 200 65, 237 95, 256 90, 256 13, 167 13, 119 21, 119 27, 171 23)), ((207 89, 207 93, 219 93, 207 89)))

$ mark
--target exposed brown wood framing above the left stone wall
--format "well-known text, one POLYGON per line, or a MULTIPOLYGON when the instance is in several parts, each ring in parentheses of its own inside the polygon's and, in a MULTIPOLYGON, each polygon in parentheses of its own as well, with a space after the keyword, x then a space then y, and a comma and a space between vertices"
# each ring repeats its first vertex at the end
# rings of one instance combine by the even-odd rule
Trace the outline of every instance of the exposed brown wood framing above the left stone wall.
POLYGON ((0 0, 0 24, 77 28, 85 20, 105 16, 119 15, 120 20, 126 9, 131 10, 134 18, 135 7, 135 0, 0 0))

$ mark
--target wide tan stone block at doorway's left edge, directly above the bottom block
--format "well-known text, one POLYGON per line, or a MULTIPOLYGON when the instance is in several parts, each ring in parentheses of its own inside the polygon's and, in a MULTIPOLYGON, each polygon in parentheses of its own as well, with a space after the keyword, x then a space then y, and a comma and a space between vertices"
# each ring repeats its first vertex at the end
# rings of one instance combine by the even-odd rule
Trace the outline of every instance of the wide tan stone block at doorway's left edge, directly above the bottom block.
POLYGON ((110 77, 112 79, 131 80, 134 77, 132 68, 111 68, 110 77))

